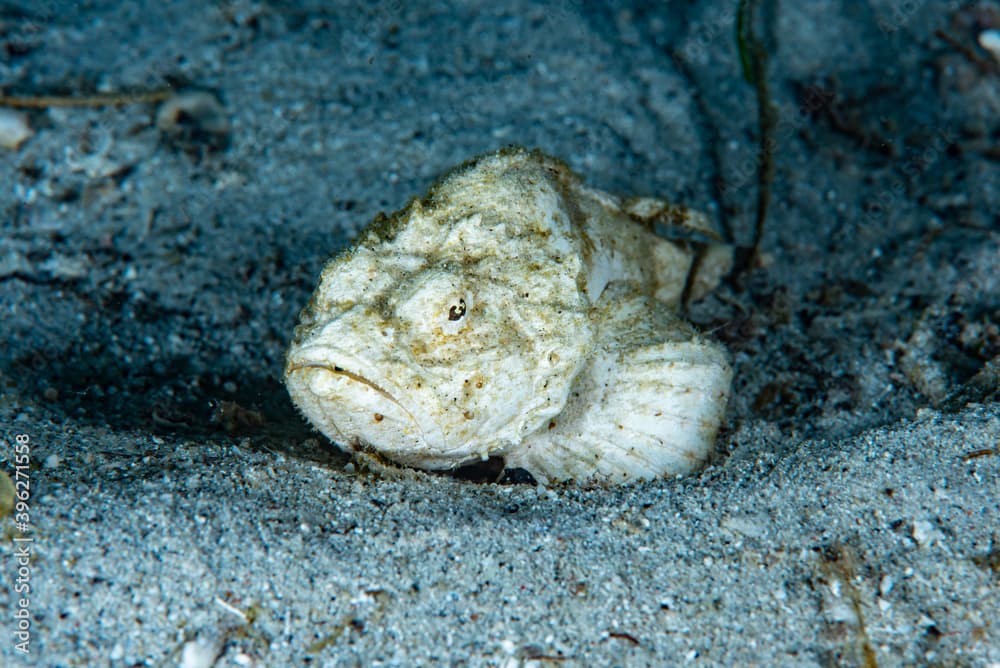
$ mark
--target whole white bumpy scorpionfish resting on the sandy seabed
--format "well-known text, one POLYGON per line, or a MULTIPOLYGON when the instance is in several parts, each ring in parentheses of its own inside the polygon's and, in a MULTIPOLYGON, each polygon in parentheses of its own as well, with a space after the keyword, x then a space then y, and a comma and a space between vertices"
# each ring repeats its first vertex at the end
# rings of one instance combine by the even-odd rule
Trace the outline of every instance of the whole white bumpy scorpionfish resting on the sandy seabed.
POLYGON ((542 482, 693 471, 732 372, 674 312, 730 252, 654 223, 714 235, 700 214, 589 189, 537 151, 467 162, 326 265, 288 350, 292 400, 341 446, 420 468, 501 456, 542 482))

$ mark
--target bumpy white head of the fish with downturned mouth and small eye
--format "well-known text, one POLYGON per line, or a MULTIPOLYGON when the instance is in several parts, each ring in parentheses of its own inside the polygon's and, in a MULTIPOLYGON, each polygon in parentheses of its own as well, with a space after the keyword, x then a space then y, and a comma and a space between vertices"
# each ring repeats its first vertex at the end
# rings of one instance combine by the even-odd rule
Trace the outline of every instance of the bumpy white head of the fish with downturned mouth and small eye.
POLYGON ((461 195, 411 202, 324 269, 285 380, 331 440, 452 468, 565 405, 594 334, 577 241, 546 210, 558 197, 461 195))

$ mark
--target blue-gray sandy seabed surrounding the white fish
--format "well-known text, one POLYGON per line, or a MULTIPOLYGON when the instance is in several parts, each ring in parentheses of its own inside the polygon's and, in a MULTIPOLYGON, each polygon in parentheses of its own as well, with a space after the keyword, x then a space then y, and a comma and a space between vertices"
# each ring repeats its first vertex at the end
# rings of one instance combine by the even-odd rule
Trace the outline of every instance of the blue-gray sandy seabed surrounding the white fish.
POLYGON ((373 471, 281 385, 329 255, 505 144, 749 243, 736 5, 0 2, 3 93, 228 123, 46 105, 0 149, 0 664, 1000 665, 998 3, 770 3, 762 255, 689 314, 736 371, 702 474, 373 471))

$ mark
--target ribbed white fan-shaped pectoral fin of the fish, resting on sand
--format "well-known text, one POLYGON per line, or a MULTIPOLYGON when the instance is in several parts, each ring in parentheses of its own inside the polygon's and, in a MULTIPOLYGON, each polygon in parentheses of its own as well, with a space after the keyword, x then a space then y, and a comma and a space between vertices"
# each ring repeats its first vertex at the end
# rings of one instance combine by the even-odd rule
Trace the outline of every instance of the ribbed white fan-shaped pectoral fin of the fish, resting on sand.
POLYGON ((729 398, 725 352, 644 296, 603 311, 600 348, 562 413, 509 451, 507 466, 542 481, 615 483, 696 470, 729 398))

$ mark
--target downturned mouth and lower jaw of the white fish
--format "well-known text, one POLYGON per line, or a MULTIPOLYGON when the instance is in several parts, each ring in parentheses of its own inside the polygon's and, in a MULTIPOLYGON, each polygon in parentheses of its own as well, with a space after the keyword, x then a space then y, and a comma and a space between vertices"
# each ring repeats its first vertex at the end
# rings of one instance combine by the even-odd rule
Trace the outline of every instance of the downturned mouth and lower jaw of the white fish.
POLYGON ((297 351, 289 356, 285 382, 306 418, 342 445, 371 446, 406 463, 441 442, 426 419, 430 411, 401 400, 403 388, 342 350, 297 351))

